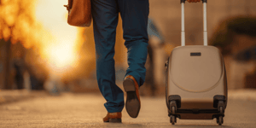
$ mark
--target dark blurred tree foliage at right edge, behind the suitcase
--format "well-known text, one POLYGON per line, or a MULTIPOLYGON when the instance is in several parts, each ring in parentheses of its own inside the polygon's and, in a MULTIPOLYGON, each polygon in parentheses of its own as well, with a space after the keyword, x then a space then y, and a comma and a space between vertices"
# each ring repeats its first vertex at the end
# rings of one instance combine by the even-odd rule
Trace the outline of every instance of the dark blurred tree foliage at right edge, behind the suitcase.
POLYGON ((256 37, 256 17, 236 16, 221 21, 213 32, 210 44, 220 48, 223 55, 230 55, 237 35, 256 37))

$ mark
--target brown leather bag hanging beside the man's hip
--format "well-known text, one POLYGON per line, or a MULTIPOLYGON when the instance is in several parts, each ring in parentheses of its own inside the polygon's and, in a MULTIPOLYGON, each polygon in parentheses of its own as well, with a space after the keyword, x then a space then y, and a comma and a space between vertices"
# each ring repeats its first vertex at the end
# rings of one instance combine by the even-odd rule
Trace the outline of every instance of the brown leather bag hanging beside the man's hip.
POLYGON ((90 0, 68 0, 68 5, 64 5, 64 7, 68 10, 67 23, 70 26, 90 26, 90 0))

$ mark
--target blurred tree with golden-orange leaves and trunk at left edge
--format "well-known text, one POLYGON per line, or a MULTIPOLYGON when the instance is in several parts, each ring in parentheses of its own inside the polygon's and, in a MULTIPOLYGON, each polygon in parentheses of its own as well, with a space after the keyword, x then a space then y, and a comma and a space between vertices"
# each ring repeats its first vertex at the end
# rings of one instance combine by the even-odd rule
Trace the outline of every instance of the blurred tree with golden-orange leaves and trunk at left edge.
POLYGON ((3 88, 10 89, 11 45, 31 41, 34 24, 34 0, 0 0, 0 40, 5 45, 3 88))

